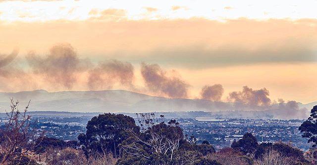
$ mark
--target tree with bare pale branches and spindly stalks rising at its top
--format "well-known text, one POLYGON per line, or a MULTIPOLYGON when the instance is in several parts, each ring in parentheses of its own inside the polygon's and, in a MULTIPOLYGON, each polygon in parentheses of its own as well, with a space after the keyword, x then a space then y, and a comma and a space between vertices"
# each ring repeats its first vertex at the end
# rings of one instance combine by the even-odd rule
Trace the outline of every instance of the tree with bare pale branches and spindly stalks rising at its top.
MULTIPOLYGON (((151 114, 148 115, 152 116, 151 114)), ((161 116, 161 118, 163 117, 161 116)), ((131 138, 121 145, 121 152, 145 159, 149 159, 150 155, 153 154, 163 154, 168 155, 172 160, 175 151, 179 148, 180 140, 184 137, 179 123, 176 120, 171 120, 168 125, 164 122, 156 124, 151 119, 153 119, 153 116, 148 118, 147 114, 141 114, 141 122, 139 122, 141 126, 144 126, 143 121, 149 121, 149 123, 145 123, 146 126, 141 135, 131 132, 131 138)))

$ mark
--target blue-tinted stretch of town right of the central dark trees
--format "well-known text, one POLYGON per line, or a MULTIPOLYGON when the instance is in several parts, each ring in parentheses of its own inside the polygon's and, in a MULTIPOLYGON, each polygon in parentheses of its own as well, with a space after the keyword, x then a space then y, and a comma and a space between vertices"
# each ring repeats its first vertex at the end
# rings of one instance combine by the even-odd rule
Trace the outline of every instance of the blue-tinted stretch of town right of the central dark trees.
POLYGON ((302 120, 262 120, 262 119, 226 119, 199 121, 179 119, 184 132, 194 135, 199 141, 207 140, 216 149, 229 147, 238 141, 246 132, 252 133, 259 143, 286 142, 302 150, 310 145, 303 138, 298 127, 302 120))

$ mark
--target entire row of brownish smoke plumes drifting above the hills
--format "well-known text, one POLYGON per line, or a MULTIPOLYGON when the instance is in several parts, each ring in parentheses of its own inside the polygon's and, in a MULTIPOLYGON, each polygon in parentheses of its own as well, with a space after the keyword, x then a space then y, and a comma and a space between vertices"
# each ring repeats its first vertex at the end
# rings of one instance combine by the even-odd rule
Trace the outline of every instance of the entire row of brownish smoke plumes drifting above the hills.
MULTIPOLYGON (((19 68, 12 61, 18 54, 17 50, 9 55, 0 55, 0 89, 28 90, 39 88, 34 75, 19 68), (28 85, 25 85, 28 84, 28 85), (27 87, 25 87, 27 86, 27 87), (23 88, 21 88, 23 87, 23 88)), ((134 67, 131 63, 111 60, 93 65, 88 60, 80 59, 70 44, 58 44, 50 49, 46 56, 31 52, 27 56, 32 73, 43 77, 51 84, 58 84, 67 89, 78 82, 77 75, 87 74, 89 89, 111 89, 115 84, 134 88, 134 67), (86 72, 87 71, 87 72, 86 72)), ((141 75, 146 87, 155 94, 170 98, 187 98, 189 84, 173 72, 166 72, 158 64, 141 64, 141 75)), ((41 87, 40 87, 41 88, 41 87)), ((206 85, 201 90, 201 98, 221 101, 224 89, 221 84, 206 85)), ((230 92, 228 101, 234 106, 226 106, 226 110, 265 110, 274 118, 291 119, 307 118, 307 109, 301 109, 296 101, 279 103, 271 102, 266 88, 253 90, 244 86, 242 91, 230 92), (238 108, 239 109, 238 109, 238 108)))

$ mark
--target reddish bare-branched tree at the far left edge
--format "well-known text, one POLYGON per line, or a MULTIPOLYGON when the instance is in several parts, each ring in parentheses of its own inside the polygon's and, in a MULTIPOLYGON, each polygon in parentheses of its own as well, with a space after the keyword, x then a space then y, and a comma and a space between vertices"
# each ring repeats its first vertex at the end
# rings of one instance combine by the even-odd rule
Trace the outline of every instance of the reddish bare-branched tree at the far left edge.
POLYGON ((19 111, 19 101, 10 98, 10 111, 6 111, 8 120, 0 129, 0 155, 1 165, 7 164, 29 154, 29 127, 30 116, 26 114, 31 100, 19 111))

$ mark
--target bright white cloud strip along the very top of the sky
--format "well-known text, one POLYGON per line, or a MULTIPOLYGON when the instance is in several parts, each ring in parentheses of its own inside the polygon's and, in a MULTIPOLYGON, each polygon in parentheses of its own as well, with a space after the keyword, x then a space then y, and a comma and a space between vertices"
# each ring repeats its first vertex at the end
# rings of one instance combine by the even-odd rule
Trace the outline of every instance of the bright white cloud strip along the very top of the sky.
POLYGON ((46 21, 46 20, 85 20, 92 9, 123 9, 127 17, 139 19, 177 19, 204 17, 212 20, 270 18, 317 18, 317 1, 306 0, 60 0, 60 1, 11 1, 0 2, 2 12, 0 20, 5 21, 46 21), (157 8, 155 15, 147 15, 144 7, 157 8), (187 10, 172 10, 173 6, 182 6, 187 10), (230 6, 232 9, 226 9, 230 6), (63 10, 61 10, 63 8, 63 10), (75 10, 73 10, 76 8, 75 10), (69 12, 73 10, 72 12, 69 12), (27 13, 21 16, 21 13, 27 13))

